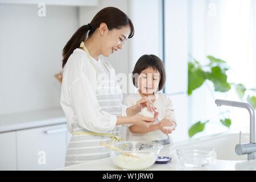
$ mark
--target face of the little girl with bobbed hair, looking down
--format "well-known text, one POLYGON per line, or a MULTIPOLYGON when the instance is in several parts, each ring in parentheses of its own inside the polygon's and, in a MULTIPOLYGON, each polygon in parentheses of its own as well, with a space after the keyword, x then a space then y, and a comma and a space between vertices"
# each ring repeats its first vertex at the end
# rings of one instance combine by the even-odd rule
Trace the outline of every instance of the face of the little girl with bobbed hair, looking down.
POLYGON ((160 73, 157 69, 148 67, 144 69, 138 77, 139 92, 143 94, 152 94, 158 90, 160 82, 160 73))

